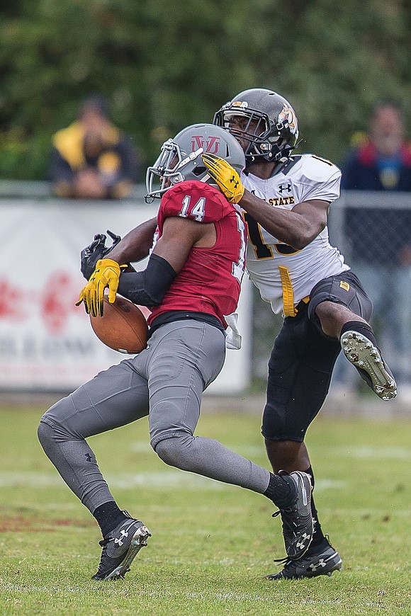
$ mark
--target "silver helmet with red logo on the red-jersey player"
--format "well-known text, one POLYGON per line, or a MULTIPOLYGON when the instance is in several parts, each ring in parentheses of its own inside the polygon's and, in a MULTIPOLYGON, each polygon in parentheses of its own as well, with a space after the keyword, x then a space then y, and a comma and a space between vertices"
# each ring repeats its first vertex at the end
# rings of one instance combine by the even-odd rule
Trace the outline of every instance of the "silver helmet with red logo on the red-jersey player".
POLYGON ((167 139, 157 161, 148 167, 146 202, 161 199, 171 186, 186 180, 215 184, 201 159, 205 152, 225 159, 238 173, 244 169, 244 152, 230 132, 213 124, 193 124, 167 139))

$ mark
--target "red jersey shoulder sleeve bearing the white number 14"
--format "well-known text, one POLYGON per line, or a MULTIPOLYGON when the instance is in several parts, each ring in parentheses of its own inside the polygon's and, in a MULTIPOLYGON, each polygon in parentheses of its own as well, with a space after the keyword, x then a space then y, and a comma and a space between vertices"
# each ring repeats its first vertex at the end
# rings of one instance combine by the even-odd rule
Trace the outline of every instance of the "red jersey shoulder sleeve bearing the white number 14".
POLYGON ((160 205, 162 218, 181 216, 196 222, 217 222, 233 207, 218 188, 198 181, 176 184, 164 193, 160 205))

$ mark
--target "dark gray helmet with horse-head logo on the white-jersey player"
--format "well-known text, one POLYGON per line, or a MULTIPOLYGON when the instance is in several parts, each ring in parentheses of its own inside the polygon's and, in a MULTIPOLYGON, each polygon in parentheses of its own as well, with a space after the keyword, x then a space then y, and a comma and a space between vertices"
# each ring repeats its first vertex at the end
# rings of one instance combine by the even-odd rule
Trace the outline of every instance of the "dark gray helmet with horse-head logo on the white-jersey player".
POLYGON ((248 142, 247 164, 261 159, 285 162, 297 147, 295 111, 286 98, 271 90, 252 88, 240 92, 215 113, 213 123, 248 142), (244 118, 244 125, 234 124, 232 118, 244 118))

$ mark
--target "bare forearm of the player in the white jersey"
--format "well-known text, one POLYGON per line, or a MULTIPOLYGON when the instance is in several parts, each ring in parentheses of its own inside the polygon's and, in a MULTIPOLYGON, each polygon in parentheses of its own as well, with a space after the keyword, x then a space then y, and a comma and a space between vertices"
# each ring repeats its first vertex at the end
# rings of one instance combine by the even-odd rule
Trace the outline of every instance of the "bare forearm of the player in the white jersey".
POLYGON ((310 244, 310 241, 313 241, 319 233, 318 229, 310 227, 305 217, 290 210, 281 210, 269 205, 249 190, 244 191, 239 205, 267 232, 296 250, 301 250, 310 244))

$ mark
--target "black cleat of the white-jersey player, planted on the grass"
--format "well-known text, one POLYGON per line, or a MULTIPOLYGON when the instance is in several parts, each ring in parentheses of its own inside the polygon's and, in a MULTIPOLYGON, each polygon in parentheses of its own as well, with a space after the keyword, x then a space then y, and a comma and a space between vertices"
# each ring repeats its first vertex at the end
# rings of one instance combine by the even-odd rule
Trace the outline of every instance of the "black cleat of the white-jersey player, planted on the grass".
POLYGON ((324 540, 315 548, 311 547, 298 560, 283 559, 278 562, 285 563, 282 571, 279 571, 278 574, 266 576, 266 580, 315 578, 317 576, 330 576, 333 571, 342 570, 342 559, 327 540, 324 540))

